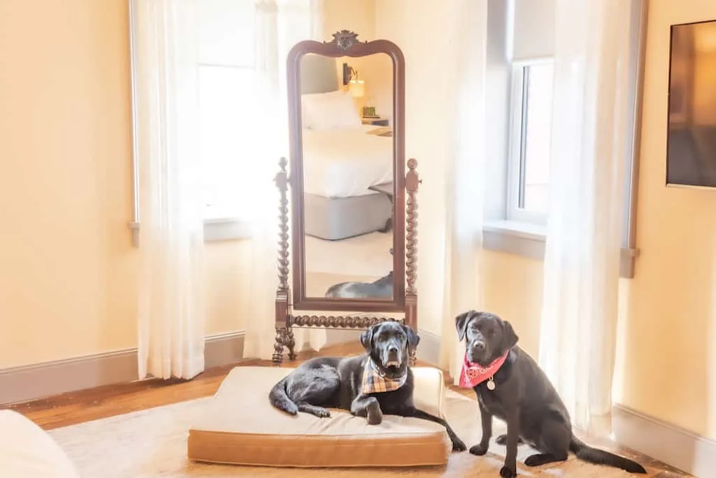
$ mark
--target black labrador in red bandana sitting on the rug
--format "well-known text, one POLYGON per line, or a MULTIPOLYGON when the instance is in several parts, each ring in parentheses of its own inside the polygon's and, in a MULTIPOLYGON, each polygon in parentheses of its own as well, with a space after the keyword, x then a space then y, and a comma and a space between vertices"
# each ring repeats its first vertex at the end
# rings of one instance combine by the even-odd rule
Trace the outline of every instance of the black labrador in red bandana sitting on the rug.
POLYGON ((517 446, 523 443, 539 452, 525 459, 528 467, 563 462, 573 452, 586 462, 647 472, 637 462, 589 447, 574 436, 566 406, 538 364, 516 346, 518 336, 508 321, 468 311, 455 318, 455 328, 460 341, 465 340, 460 386, 475 390, 483 426, 480 444, 470 453, 487 453, 493 416, 507 423, 507 434, 496 439, 507 447, 500 477, 517 476, 517 446))

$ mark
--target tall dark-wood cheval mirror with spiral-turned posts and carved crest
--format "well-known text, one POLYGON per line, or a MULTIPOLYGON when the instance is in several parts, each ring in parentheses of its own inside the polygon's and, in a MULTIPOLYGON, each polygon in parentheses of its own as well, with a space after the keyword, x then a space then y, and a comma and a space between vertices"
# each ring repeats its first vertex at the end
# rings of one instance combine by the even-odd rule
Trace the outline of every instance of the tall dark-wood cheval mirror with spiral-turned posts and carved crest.
POLYGON ((415 160, 405 171, 405 59, 387 40, 360 42, 347 30, 333 36, 300 42, 288 55, 291 156, 290 172, 281 158, 276 175, 275 365, 284 348, 296 358, 295 327, 397 320, 417 331, 420 181, 415 160))

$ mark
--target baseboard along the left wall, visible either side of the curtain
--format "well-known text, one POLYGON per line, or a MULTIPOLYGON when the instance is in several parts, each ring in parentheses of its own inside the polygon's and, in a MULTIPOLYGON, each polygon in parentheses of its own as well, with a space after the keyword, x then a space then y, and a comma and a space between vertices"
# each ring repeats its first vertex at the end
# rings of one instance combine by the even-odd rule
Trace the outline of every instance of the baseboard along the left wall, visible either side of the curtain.
MULTIPOLYGON (((207 369, 243 358, 243 331, 208 336, 207 369)), ((0 370, 0 404, 137 380, 137 348, 0 370)))

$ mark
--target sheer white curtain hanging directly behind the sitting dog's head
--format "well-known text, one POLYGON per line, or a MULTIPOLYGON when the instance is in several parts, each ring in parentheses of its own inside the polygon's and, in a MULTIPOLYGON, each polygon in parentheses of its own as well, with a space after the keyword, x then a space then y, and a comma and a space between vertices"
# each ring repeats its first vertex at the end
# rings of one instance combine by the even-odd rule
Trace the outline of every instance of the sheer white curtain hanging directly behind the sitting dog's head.
POLYGON ((487 0, 458 0, 454 44, 455 112, 449 119, 454 137, 447 167, 448 207, 445 224, 445 288, 443 290, 440 366, 460 380, 465 347, 455 333, 455 316, 480 309, 483 190, 485 168, 485 61, 487 0))

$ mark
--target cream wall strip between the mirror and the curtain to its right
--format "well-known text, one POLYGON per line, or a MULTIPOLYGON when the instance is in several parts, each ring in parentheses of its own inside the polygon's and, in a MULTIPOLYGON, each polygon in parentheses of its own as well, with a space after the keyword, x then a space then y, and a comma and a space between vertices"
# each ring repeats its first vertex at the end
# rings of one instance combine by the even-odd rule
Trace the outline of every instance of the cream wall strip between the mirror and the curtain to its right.
POLYGON ((450 78, 453 60, 443 54, 450 48, 454 30, 448 27, 453 26, 453 4, 450 0, 379 0, 375 16, 376 36, 395 42, 405 55, 405 149, 407 157, 417 159, 423 180, 417 196, 418 323, 422 330, 437 335, 444 283, 444 165, 448 163, 448 126, 438 118, 448 117, 450 107, 443 100, 450 92, 435 85, 454 81, 450 78), (427 24, 430 34, 423 28, 427 24), (432 94, 425 94, 426 89, 432 94))

